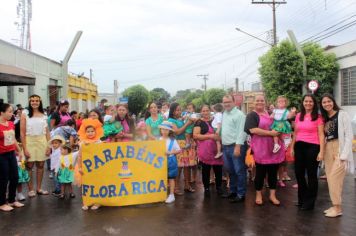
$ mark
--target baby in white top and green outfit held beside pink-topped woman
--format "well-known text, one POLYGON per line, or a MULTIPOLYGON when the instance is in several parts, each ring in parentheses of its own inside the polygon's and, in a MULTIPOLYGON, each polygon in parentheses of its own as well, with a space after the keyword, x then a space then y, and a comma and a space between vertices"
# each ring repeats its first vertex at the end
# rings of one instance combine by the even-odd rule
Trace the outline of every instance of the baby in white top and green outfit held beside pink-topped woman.
POLYGON ((271 118, 274 119, 271 129, 280 132, 281 134, 273 138, 274 146, 273 153, 277 153, 281 148, 278 141, 281 139, 284 145, 288 146, 291 141, 292 127, 288 121, 295 116, 296 108, 293 107, 290 111, 287 109, 288 99, 285 96, 277 97, 277 109, 273 110, 271 118))

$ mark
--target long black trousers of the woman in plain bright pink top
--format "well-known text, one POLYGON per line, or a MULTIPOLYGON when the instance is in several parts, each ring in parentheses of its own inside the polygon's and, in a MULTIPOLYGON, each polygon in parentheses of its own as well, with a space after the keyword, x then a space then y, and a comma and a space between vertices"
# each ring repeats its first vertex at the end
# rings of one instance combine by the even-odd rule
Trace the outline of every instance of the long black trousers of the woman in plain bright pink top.
POLYGON ((320 145, 298 141, 294 145, 295 177, 298 182, 298 203, 313 208, 318 195, 318 166, 320 145), (305 178, 307 174, 307 179, 305 178))

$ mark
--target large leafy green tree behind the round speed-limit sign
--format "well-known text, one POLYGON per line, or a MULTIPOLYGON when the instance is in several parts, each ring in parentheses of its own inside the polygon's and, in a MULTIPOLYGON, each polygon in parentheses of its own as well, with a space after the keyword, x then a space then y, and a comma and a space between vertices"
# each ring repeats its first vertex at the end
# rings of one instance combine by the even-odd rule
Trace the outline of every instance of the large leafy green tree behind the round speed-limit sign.
POLYGON ((303 86, 312 79, 321 85, 317 96, 325 92, 332 93, 338 73, 335 55, 325 53, 316 43, 303 45, 303 51, 307 60, 306 79, 303 77, 302 59, 288 40, 282 41, 260 57, 259 73, 269 102, 275 102, 279 95, 284 95, 291 106, 298 106, 303 95, 303 86))

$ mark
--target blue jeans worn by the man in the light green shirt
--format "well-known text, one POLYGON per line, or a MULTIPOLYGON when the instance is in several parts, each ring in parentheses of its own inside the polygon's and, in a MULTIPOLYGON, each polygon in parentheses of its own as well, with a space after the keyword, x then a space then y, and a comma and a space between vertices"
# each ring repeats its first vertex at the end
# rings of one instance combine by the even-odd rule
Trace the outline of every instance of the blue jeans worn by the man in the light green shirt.
POLYGON ((235 145, 223 145, 224 167, 230 175, 230 192, 245 197, 247 173, 245 157, 247 146, 241 145, 240 156, 234 156, 235 145))

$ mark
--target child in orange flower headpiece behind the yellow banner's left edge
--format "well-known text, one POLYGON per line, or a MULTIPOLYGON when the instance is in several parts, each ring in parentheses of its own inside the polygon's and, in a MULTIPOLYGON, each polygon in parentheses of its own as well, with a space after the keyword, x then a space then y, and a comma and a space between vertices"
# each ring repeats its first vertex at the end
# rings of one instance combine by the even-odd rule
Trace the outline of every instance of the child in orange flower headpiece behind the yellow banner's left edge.
MULTIPOLYGON (((83 120, 78 135, 80 139, 80 147, 79 147, 79 156, 78 156, 78 165, 77 165, 78 168, 75 171, 76 172, 75 179, 76 179, 76 184, 78 186, 81 186, 81 176, 84 174, 82 171, 82 159, 83 159, 82 146, 90 143, 101 143, 100 138, 103 137, 104 130, 99 120, 89 118, 83 120)), ((100 208, 99 204, 93 204, 90 207, 91 210, 97 210, 99 208, 100 208)), ((89 206, 83 204, 82 209, 86 211, 89 209, 89 206)))

